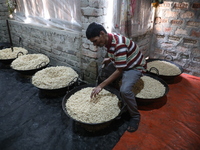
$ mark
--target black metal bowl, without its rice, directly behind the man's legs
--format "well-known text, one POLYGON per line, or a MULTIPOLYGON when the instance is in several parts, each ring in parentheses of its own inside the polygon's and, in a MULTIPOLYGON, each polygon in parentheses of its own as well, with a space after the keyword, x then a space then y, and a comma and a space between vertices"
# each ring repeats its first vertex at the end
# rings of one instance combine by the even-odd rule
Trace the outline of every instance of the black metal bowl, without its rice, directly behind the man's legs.
POLYGON ((157 102, 159 101, 162 97, 166 96, 167 93, 169 92, 169 86, 168 84, 161 78, 159 78, 158 76, 155 76, 153 74, 149 74, 149 73, 145 73, 144 76, 149 76, 157 81, 159 81, 164 87, 165 87, 165 92, 162 96, 160 97, 156 97, 156 98, 139 98, 137 97, 136 95, 136 101, 140 104, 149 104, 149 103, 152 103, 152 102, 157 102))

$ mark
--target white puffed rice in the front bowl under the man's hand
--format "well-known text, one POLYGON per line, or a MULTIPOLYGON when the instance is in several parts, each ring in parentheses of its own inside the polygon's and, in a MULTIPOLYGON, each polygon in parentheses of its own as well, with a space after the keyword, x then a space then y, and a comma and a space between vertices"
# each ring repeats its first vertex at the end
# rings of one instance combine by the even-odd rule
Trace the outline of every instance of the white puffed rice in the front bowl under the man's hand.
POLYGON ((103 123, 118 116, 120 108, 116 95, 103 89, 95 98, 90 98, 92 87, 83 88, 66 102, 68 114, 84 123, 103 123))

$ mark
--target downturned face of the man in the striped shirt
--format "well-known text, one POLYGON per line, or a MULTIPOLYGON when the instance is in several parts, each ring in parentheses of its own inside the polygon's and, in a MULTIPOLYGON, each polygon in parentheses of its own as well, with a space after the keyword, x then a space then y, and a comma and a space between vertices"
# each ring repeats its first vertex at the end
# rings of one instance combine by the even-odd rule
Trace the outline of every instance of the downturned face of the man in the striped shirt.
POLYGON ((100 33, 99 36, 91 38, 90 41, 94 44, 94 46, 98 46, 98 47, 105 46, 106 45, 106 39, 105 39, 104 32, 100 33))

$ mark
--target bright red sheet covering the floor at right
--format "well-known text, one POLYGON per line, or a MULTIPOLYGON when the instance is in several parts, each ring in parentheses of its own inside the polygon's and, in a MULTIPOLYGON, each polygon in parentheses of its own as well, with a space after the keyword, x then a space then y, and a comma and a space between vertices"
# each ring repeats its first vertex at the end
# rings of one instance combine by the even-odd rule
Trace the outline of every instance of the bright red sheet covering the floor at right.
POLYGON ((113 150, 199 150, 200 77, 181 74, 160 102, 139 107, 141 122, 113 150))

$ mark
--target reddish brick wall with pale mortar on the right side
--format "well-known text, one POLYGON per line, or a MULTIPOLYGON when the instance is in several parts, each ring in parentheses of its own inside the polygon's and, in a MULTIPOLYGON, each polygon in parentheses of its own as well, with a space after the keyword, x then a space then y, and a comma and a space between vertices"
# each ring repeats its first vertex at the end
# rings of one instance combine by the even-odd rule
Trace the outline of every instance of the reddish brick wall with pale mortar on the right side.
POLYGON ((157 7, 151 58, 173 57, 184 72, 200 76, 200 1, 164 1, 157 7))

